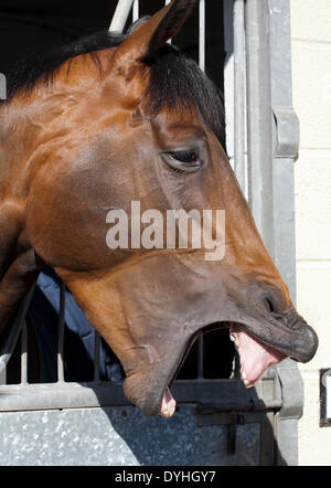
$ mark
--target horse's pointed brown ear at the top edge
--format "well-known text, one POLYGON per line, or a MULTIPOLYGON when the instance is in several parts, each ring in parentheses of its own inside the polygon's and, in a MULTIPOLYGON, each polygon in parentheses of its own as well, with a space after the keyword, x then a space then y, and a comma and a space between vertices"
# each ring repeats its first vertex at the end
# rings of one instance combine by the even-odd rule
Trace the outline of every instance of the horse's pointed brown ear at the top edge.
POLYGON ((159 10, 118 47, 116 59, 124 65, 126 57, 130 62, 147 61, 152 57, 166 42, 174 38, 190 15, 196 0, 172 0, 159 10))

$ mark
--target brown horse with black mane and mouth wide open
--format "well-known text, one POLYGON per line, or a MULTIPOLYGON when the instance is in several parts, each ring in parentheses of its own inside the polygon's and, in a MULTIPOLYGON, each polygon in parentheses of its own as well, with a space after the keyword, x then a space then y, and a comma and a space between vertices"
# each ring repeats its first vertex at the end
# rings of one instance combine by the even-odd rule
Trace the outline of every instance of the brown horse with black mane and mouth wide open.
POLYGON ((221 147, 216 89, 167 43, 194 3, 174 0, 124 39, 68 49, 0 110, 1 330, 51 265, 119 358, 125 393, 147 415, 173 413, 168 385, 211 323, 231 328, 247 385, 286 357, 309 361, 318 343, 221 147), (162 215, 223 210, 223 258, 205 259, 204 244, 178 240, 109 248, 107 215, 130 214, 131 202, 162 215))

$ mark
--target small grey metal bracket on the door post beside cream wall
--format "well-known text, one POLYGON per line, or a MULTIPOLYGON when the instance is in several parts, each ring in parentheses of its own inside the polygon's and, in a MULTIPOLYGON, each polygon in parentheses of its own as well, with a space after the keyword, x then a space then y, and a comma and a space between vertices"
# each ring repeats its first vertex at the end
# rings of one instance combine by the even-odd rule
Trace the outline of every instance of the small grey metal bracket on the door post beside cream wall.
POLYGON ((291 107, 273 107, 276 125, 275 158, 296 159, 299 151, 299 119, 291 107))

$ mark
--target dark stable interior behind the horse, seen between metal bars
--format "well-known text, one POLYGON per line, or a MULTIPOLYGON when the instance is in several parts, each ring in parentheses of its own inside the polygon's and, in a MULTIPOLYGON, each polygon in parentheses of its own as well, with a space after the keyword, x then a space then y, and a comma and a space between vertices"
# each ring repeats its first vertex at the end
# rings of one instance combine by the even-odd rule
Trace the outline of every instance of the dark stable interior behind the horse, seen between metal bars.
MULTIPOLYGON (((83 35, 106 30, 117 1, 95 0, 93 4, 73 0, 1 0, 0 1, 0 73, 7 76, 26 55, 52 50, 83 35)), ((164 0, 140 0, 139 15, 151 14, 162 8, 164 0)), ((223 92, 223 1, 206 2, 205 11, 206 73, 223 92)), ((131 23, 129 17, 127 26, 131 23)), ((199 9, 195 8, 180 34, 173 41, 183 52, 197 61, 199 9)), ((224 141, 221 141, 224 145, 224 141)), ((26 316, 28 381, 54 382, 56 373, 58 280, 52 269, 43 274, 26 316), (45 291, 46 290, 46 291, 45 291)), ((82 310, 66 290, 64 332, 65 381, 92 381, 94 378, 94 333, 82 310), (74 352, 73 352, 74 351, 74 352)), ((189 352, 178 379, 195 379, 199 374, 199 342, 189 352)), ((20 342, 12 354, 7 382, 20 383, 20 342)), ((203 378, 226 379, 233 368, 234 348, 228 329, 207 332, 203 338, 203 378)), ((200 371, 201 373, 201 371, 200 371)), ((100 379, 121 381, 122 371, 115 354, 102 340, 100 379)))

